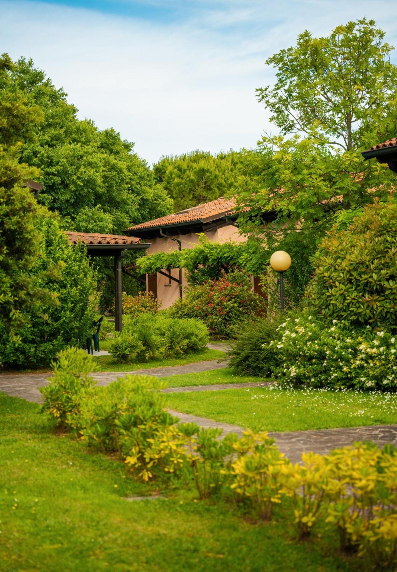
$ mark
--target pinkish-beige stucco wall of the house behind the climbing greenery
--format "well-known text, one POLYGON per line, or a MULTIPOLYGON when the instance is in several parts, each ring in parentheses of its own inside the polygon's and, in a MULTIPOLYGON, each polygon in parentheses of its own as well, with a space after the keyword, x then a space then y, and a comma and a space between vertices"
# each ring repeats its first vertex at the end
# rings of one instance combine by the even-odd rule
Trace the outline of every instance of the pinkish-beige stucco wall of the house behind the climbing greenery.
MULTIPOLYGON (((206 232, 205 236, 211 242, 217 243, 225 243, 228 240, 232 240, 234 242, 244 242, 245 237, 239 234, 239 231, 233 225, 228 225, 227 227, 223 227, 218 229, 217 231, 206 232)), ((192 233, 188 235, 176 235, 174 238, 181 241, 182 248, 194 248, 198 243, 198 235, 194 235, 192 233)), ((166 238, 158 238, 158 239, 151 239, 150 247, 145 251, 146 256, 150 254, 154 254, 155 252, 170 252, 173 250, 177 250, 178 244, 172 239, 166 238)), ((179 277, 179 270, 177 268, 173 268, 171 271, 171 276, 178 279, 179 277)), ((182 270, 182 292, 187 287, 186 279, 185 279, 185 272, 182 270)), ((148 277, 146 276, 146 291, 148 291, 148 277)), ((179 285, 171 280, 169 284, 169 279, 161 274, 157 274, 157 298, 161 301, 161 308, 169 308, 179 296, 179 285)), ((183 293, 182 293, 183 296, 183 293)))

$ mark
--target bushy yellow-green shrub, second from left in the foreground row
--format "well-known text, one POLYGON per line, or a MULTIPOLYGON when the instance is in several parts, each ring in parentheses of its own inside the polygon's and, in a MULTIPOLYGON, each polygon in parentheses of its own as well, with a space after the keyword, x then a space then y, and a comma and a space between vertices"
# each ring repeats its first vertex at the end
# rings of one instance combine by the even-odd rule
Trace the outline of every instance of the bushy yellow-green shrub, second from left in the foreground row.
POLYGON ((73 424, 89 444, 117 452, 143 480, 154 470, 174 472, 184 463, 177 418, 165 411, 166 387, 147 375, 126 375, 108 386, 93 387, 73 424))

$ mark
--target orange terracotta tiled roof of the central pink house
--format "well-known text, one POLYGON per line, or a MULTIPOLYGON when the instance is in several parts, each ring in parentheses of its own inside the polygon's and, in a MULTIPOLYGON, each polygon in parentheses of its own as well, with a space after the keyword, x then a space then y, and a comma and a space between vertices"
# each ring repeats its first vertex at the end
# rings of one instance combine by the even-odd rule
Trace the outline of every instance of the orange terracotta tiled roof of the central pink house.
POLYGON ((128 231, 135 231, 143 228, 167 227, 174 224, 183 224, 190 222, 207 223, 223 216, 232 216, 235 214, 234 208, 236 201, 234 198, 220 197, 215 201, 204 202, 202 205, 193 206, 190 209, 181 210, 173 215, 166 215, 160 219, 149 220, 146 223, 137 224, 130 227, 128 231))

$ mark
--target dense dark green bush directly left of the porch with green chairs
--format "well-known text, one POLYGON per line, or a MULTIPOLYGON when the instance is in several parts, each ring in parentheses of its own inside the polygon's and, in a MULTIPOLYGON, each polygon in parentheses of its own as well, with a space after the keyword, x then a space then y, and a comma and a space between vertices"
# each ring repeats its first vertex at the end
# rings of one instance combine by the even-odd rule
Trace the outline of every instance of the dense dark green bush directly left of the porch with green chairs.
POLYGON ((81 347, 90 333, 95 273, 84 245, 69 244, 57 219, 45 209, 35 217, 40 238, 29 277, 46 296, 26 312, 25 323, 18 329, 19 340, 10 337, 7 329, 0 330, 3 367, 47 364, 62 349, 81 347))

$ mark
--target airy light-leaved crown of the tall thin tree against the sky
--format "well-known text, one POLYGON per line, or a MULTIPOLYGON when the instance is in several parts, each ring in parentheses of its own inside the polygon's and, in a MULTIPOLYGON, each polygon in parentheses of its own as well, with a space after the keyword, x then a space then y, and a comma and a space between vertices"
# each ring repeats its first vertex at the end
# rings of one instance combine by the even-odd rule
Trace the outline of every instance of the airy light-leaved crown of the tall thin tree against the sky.
POLYGON ((394 136, 397 67, 384 35, 374 20, 362 18, 326 38, 305 30, 296 46, 268 58, 277 81, 257 89, 257 96, 281 134, 321 133, 343 150, 358 149, 368 132, 378 141, 386 134, 384 124, 394 136))

